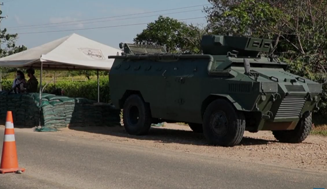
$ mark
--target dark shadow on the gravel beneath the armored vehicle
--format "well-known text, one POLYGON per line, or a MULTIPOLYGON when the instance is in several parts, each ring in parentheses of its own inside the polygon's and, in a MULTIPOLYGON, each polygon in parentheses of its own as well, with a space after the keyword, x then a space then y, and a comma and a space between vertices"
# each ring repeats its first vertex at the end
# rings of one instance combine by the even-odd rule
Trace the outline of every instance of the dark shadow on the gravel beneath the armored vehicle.
MULTIPOLYGON (((183 127, 183 126, 181 126, 183 127)), ((187 126, 185 126, 187 127, 187 126)), ((207 146, 206 140, 201 133, 194 133, 189 130, 167 129, 151 127, 149 133, 144 136, 129 135, 121 126, 116 127, 70 127, 71 130, 84 131, 89 133, 111 135, 117 137, 125 137, 137 140, 149 140, 157 143, 179 143, 191 144, 199 146, 207 146)), ((271 143, 278 143, 275 140, 255 139, 250 137, 243 137, 239 145, 266 145, 271 143)))

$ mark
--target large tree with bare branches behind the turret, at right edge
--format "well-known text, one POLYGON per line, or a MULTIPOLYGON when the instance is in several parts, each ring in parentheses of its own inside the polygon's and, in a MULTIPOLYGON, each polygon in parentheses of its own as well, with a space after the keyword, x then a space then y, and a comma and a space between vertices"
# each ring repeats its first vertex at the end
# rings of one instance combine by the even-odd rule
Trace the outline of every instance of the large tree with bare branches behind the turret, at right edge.
MULTIPOLYGON (((326 0, 208 0, 211 31, 274 40, 272 52, 294 74, 322 82, 327 69, 326 0), (320 77, 324 73, 323 78, 320 77)), ((324 85, 327 89, 327 86, 324 85)), ((323 95, 323 102, 327 95, 323 95)), ((321 103, 327 112, 327 103, 321 103)))

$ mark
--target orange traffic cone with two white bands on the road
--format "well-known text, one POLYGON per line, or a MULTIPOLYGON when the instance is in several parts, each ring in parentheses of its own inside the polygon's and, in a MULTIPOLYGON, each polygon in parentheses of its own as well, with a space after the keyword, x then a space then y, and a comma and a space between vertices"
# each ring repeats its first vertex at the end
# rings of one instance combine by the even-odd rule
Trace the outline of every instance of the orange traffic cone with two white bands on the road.
POLYGON ((8 111, 6 118, 5 136, 3 138, 0 173, 12 173, 17 171, 24 172, 25 169, 18 167, 14 124, 12 121, 12 113, 11 111, 8 111))

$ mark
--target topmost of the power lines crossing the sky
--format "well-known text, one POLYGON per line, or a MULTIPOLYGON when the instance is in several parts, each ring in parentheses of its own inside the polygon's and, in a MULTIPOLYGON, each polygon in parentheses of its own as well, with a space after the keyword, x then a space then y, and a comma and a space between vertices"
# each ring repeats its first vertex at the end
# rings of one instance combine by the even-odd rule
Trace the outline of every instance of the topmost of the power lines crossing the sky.
MULTIPOLYGON (((14 0, 13 0, 14 1, 14 0)), ((48 23, 48 24, 37 24, 37 25, 26 25, 26 26, 14 26, 14 27, 8 27, 7 29, 11 28, 21 28, 21 27, 30 27, 30 26, 46 26, 46 25, 54 25, 54 24, 64 24, 64 23, 76 23, 76 22, 83 22, 83 21, 91 21, 91 20, 101 20, 101 19, 107 19, 107 18, 117 18, 117 17, 123 17, 123 16, 134 16, 134 15, 140 15, 140 14, 148 14, 148 13, 156 13, 156 12, 163 12, 163 11, 169 11, 169 10, 178 10, 178 9, 187 9, 187 8, 193 8, 193 7, 201 7, 211 4, 204 4, 204 5, 195 5, 190 7, 181 7, 181 8, 175 8, 175 9, 165 9, 165 10, 156 10, 156 11, 150 11, 150 12, 142 12, 142 13, 135 13, 135 14, 125 14, 125 15, 118 15, 118 16, 108 16, 108 17, 101 17, 101 18, 93 18, 93 19, 86 19, 86 20, 77 20, 77 21, 68 21, 68 22, 58 22, 58 23, 48 23)))

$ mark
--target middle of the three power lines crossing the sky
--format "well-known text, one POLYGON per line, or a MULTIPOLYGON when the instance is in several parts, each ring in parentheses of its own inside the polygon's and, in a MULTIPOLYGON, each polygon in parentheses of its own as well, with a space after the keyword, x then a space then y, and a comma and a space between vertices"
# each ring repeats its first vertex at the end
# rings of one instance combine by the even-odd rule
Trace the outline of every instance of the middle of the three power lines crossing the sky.
MULTIPOLYGON (((186 11, 179 11, 179 12, 170 12, 170 13, 166 13, 164 15, 184 13, 184 12, 194 12, 194 11, 198 11, 198 10, 202 10, 202 9, 186 10, 186 11)), ((129 18, 120 18, 120 19, 112 19, 112 20, 101 20, 101 21, 76 23, 76 24, 75 23, 74 24, 65 24, 65 25, 57 25, 57 26, 40 26, 40 27, 29 27, 29 28, 17 28, 17 29, 11 29, 11 30, 36 29, 36 28, 48 28, 48 27, 59 27, 59 26, 73 26, 73 25, 79 25, 79 24, 94 24, 94 23, 103 23, 103 22, 111 22, 111 21, 118 21, 118 20, 129 20, 129 19, 135 19, 135 18, 146 18, 146 17, 160 16, 160 15, 162 15, 162 14, 147 15, 147 16, 138 16, 138 17, 129 17, 129 18)))

